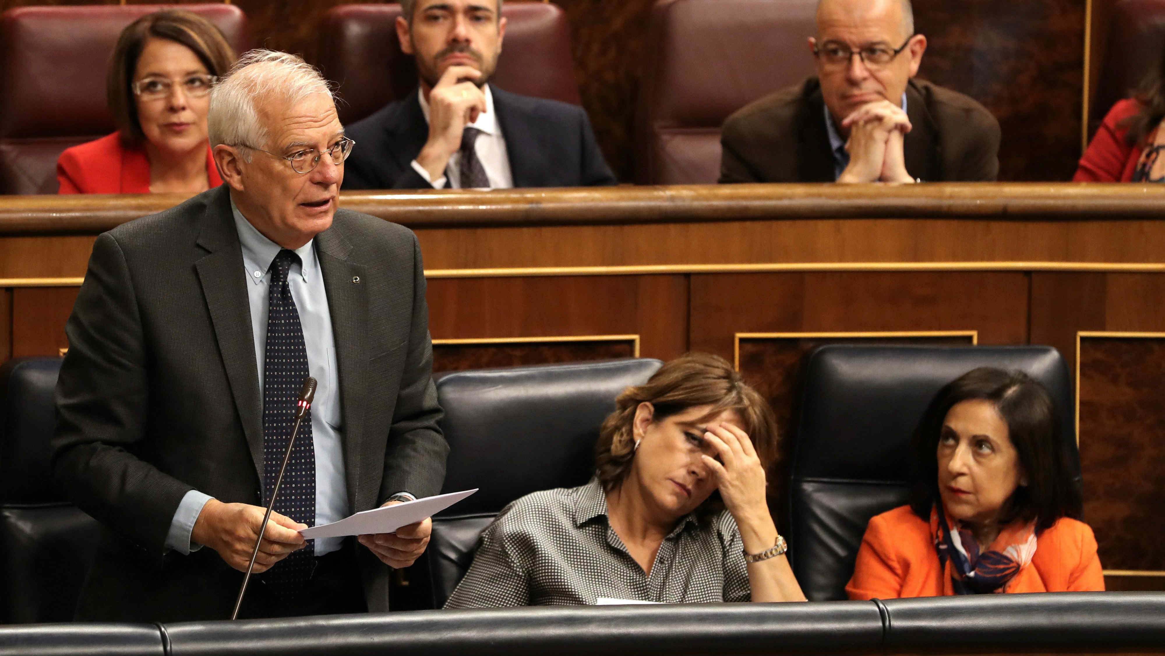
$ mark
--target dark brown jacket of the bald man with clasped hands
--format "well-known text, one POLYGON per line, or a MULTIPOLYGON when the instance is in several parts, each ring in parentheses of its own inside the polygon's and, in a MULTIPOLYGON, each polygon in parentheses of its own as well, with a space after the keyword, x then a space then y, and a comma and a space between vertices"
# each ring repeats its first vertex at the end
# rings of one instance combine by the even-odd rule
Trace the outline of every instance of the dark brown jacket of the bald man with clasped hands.
MULTIPOLYGON (((1000 124, 973 99, 929 82, 906 86, 906 171, 924 182, 994 181, 1000 124)), ((725 121, 720 182, 833 182, 821 84, 811 77, 725 121)))

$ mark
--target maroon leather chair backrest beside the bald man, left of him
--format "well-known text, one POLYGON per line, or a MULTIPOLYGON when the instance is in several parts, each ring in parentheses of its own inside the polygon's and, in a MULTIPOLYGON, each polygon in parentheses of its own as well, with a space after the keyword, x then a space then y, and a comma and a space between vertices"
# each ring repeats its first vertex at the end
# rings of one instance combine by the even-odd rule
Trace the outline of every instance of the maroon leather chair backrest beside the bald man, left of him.
POLYGON ((813 75, 817 0, 659 0, 636 110, 640 184, 711 184, 733 112, 813 75))

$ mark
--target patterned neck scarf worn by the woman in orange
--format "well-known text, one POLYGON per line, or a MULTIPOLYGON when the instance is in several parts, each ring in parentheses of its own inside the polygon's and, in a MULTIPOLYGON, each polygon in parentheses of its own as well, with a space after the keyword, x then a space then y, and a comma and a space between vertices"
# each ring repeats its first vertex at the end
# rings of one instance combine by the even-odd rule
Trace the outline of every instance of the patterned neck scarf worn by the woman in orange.
POLYGON ((987 551, 980 553, 974 534, 955 520, 947 523, 942 503, 931 509, 931 538, 939 566, 951 563, 955 594, 1007 592, 1008 584, 1036 555, 1036 522, 1015 521, 1003 527, 987 551))

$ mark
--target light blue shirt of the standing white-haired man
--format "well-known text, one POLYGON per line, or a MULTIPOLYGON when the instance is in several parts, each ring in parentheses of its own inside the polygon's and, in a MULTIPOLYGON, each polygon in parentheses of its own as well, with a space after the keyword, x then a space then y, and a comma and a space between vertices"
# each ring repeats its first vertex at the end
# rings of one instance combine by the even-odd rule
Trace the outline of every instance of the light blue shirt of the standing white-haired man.
MULTIPOLYGON (((263 357, 267 350, 267 306, 271 274, 268 270, 281 246, 262 235, 231 200, 234 225, 242 246, 242 275, 247 278, 247 297, 250 301, 250 326, 255 337, 255 364, 259 368, 259 389, 263 389, 263 357)), ((316 256, 316 240, 297 248, 303 264, 291 264, 288 284, 299 323, 303 325, 304 346, 308 350, 308 371, 316 379, 316 398, 311 405, 311 433, 316 447, 316 525, 343 520, 348 516, 348 492, 344 475, 344 449, 341 433, 344 418, 340 412, 339 374, 336 360, 336 340, 332 334, 332 317, 327 308, 324 275, 316 256)), ((165 545, 189 553, 202 545, 190 542, 190 532, 211 496, 190 491, 183 496, 174 514, 165 545)), ((323 556, 340 548, 344 538, 316 539, 316 556, 323 556)))

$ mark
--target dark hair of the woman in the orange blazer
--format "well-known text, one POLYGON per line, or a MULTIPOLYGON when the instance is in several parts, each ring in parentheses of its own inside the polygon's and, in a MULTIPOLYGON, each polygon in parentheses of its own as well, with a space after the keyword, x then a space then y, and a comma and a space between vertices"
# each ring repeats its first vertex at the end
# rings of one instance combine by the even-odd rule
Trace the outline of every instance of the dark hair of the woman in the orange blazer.
POLYGON ((956 403, 981 398, 995 404, 1008 424, 1008 437, 1028 474, 1028 485, 1016 488, 1000 523, 1036 522, 1045 530, 1060 517, 1080 519, 1080 488, 1072 477, 1068 453, 1060 438, 1060 423, 1047 389, 1021 371, 994 367, 972 369, 951 381, 931 401, 915 431, 915 485, 910 507, 930 520, 940 502, 938 444, 947 412, 956 403))

